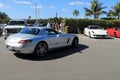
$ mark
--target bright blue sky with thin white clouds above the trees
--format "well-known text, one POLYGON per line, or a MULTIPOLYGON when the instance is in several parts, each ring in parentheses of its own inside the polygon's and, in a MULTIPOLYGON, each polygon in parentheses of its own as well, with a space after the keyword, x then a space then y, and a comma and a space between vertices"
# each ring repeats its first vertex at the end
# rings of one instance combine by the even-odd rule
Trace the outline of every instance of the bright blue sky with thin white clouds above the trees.
MULTIPOLYGON (((79 11, 78 18, 85 18, 84 7, 90 8, 92 0, 0 0, 0 11, 5 12, 10 18, 36 18, 35 3, 39 18, 53 18, 58 13, 58 17, 74 18, 73 11, 79 11)), ((119 0, 99 0, 108 11, 116 5, 119 0)), ((105 16, 105 15, 102 15, 105 16)))

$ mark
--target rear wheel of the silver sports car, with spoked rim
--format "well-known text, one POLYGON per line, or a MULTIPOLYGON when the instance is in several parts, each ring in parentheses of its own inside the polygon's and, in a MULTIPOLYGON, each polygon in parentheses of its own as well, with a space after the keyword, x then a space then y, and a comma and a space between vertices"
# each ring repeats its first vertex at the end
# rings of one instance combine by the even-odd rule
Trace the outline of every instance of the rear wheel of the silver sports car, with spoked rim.
POLYGON ((43 57, 46 55, 48 51, 48 46, 45 42, 40 42, 36 48, 35 48, 35 54, 38 56, 38 57, 43 57))

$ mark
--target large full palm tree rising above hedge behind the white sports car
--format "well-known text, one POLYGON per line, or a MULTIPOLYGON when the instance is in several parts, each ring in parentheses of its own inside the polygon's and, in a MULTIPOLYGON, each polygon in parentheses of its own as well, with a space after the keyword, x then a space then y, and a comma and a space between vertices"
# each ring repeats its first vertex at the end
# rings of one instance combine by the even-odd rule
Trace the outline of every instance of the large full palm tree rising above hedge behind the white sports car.
POLYGON ((84 8, 86 16, 94 16, 94 19, 98 19, 101 14, 106 14, 106 11, 102 11, 106 7, 102 7, 102 3, 99 3, 98 0, 93 0, 90 2, 91 8, 84 8))

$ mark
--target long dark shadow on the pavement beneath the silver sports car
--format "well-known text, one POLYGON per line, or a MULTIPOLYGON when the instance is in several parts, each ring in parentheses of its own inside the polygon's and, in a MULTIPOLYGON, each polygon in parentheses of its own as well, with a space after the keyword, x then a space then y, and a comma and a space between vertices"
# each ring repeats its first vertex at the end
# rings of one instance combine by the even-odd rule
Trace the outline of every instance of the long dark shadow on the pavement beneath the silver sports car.
POLYGON ((18 54, 18 53, 14 53, 14 55, 20 59, 25 59, 25 60, 46 61, 46 60, 63 58, 75 53, 82 53, 82 50, 86 48, 89 48, 89 47, 83 44, 79 44, 78 47, 76 48, 65 47, 65 48, 50 51, 45 57, 37 57, 33 54, 18 54))

